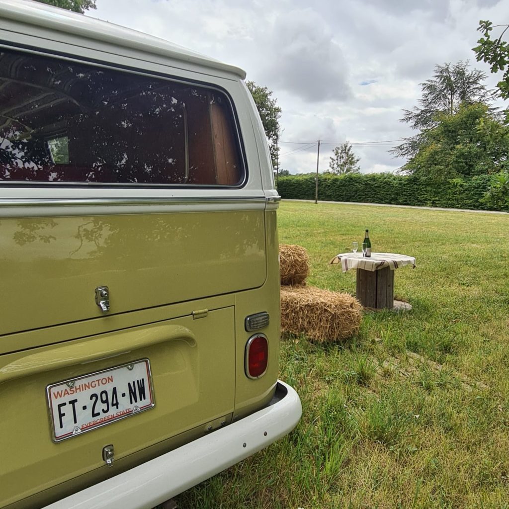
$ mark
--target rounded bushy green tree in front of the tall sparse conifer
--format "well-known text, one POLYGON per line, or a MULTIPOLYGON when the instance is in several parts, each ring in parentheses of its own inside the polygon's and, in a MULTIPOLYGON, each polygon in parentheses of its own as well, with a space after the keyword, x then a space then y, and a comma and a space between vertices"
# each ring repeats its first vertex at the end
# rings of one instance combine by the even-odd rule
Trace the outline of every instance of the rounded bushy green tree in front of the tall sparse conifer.
POLYGON ((494 174, 507 167, 509 128, 483 103, 460 104, 435 116, 421 134, 417 153, 402 170, 435 180, 494 174))

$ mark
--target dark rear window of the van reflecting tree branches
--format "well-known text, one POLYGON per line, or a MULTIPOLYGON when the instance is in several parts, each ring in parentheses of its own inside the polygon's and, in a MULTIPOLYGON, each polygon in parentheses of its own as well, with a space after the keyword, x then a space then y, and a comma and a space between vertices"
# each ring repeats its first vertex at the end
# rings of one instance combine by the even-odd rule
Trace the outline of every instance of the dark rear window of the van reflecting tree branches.
POLYGON ((223 92, 0 51, 0 181, 238 186, 223 92))

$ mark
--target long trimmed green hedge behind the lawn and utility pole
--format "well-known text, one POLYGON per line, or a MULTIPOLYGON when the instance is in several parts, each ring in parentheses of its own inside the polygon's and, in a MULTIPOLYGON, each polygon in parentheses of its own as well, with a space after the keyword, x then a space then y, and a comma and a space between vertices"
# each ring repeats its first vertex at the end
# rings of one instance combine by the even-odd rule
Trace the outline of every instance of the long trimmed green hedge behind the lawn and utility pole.
MULTIPOLYGON (((318 199, 494 210, 482 201, 490 181, 489 175, 437 182, 430 178, 390 173, 321 174, 318 176, 318 199)), ((277 189, 282 198, 314 200, 315 175, 279 177, 277 189)))

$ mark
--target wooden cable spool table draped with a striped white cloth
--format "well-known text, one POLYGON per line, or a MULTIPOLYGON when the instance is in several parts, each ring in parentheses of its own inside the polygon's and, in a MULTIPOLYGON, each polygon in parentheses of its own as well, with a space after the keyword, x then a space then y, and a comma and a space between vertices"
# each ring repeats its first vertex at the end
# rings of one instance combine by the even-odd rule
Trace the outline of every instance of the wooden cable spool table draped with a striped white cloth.
POLYGON ((394 270, 405 265, 415 268, 414 257, 396 253, 372 253, 367 258, 361 252, 348 252, 336 254, 330 263, 341 263, 343 272, 357 269, 356 296, 364 307, 412 308, 410 304, 394 301, 394 270))

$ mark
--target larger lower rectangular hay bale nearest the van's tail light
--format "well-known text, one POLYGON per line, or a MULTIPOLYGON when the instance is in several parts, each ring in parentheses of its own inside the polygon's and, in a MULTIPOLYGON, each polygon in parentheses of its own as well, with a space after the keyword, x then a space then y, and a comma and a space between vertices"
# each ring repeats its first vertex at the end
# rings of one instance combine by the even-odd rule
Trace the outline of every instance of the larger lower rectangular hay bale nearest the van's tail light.
POLYGON ((362 306, 345 293, 315 287, 281 287, 281 332, 318 342, 342 341, 359 331, 362 306))

